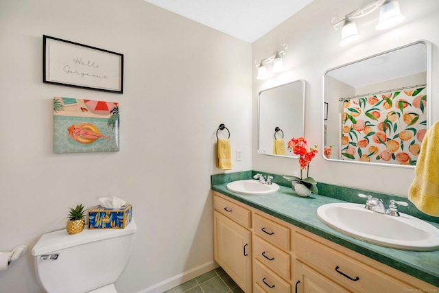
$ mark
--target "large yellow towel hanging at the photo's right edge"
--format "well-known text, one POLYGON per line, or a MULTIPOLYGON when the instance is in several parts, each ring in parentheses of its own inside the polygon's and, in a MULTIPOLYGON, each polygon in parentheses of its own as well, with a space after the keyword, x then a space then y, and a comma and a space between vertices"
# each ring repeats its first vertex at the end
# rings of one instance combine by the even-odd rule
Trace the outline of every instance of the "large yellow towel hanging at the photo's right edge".
POLYGON ((439 216, 439 121, 423 139, 409 200, 423 213, 439 216))

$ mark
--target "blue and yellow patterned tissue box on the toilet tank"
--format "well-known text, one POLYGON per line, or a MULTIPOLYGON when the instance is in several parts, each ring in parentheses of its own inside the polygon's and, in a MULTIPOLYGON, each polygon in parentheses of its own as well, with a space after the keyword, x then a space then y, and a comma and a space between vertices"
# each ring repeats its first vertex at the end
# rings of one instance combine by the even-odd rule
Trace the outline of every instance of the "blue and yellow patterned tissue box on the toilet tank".
POLYGON ((120 209, 107 209, 100 205, 88 209, 89 229, 123 229, 130 224, 132 204, 125 204, 120 209))

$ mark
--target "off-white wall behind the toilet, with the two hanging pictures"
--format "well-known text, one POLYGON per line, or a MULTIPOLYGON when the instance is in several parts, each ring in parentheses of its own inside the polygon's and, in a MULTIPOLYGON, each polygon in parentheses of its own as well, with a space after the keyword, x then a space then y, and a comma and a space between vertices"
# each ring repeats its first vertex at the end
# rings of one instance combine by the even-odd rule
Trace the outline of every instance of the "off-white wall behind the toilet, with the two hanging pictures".
MULTIPOLYGON (((231 172, 252 168, 250 44, 143 0, 2 0, 0 55, 0 251, 32 248, 69 207, 111 194, 138 226, 119 292, 213 266, 219 124, 231 172), (124 54, 123 95, 43 84, 43 34, 124 54), (120 102, 120 152, 53 154, 54 96, 120 102)), ((43 292, 30 253, 0 272, 0 292, 43 292)))

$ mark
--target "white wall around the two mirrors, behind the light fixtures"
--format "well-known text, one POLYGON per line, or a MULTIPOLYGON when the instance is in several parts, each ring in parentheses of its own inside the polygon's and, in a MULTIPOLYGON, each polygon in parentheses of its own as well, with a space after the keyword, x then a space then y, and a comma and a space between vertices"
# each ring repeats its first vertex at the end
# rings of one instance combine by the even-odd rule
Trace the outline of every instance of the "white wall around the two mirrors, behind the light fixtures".
MULTIPOLYGON (((315 0, 298 14, 292 16, 271 32, 252 44, 252 60, 261 60, 270 56, 287 43, 288 50, 284 58, 285 73, 273 75, 265 81, 256 80, 253 69, 253 113, 257 113, 257 94, 263 89, 292 80, 303 79, 306 86, 305 137, 311 145, 318 143, 322 152, 322 78, 325 71, 381 51, 387 51, 407 45, 416 40, 428 40, 432 43, 432 80, 439 78, 438 56, 439 1, 399 0, 401 12, 406 19, 391 30, 375 31, 378 11, 357 22, 362 38, 359 43, 349 47, 340 47, 340 30, 330 25, 335 15, 343 17, 370 0, 315 0)), ((437 96, 439 86, 431 84, 432 120, 439 119, 437 96)), ((253 125, 257 117, 253 115, 253 125)), ((257 154, 257 128, 253 128, 253 169, 274 174, 292 174, 298 171, 297 159, 285 159, 257 154)), ((288 138, 287 138, 288 139, 288 138)), ((407 196, 407 190, 414 178, 414 169, 358 165, 326 161, 319 154, 311 163, 310 176, 323 183, 357 187, 372 191, 407 196)))

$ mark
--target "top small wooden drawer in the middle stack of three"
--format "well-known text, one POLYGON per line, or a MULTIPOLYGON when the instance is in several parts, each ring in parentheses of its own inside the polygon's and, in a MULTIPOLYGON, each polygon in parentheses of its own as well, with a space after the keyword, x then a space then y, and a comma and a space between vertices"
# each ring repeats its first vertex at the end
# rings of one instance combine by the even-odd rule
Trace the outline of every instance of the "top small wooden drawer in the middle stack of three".
POLYGON ((289 228, 255 213, 253 215, 253 230, 268 242, 289 251, 289 228))

